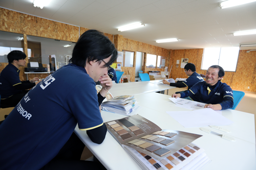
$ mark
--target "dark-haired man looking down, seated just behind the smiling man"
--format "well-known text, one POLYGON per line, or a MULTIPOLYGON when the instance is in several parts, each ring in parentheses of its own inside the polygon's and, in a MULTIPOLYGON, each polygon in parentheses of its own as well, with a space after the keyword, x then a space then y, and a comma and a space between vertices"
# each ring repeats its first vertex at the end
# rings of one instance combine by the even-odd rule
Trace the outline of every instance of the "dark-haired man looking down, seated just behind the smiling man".
MULTIPOLYGON (((187 87, 187 90, 189 90, 194 84, 197 82, 202 82, 204 81, 203 78, 197 74, 196 72, 196 66, 193 63, 187 63, 184 67, 185 73, 187 76, 189 76, 186 80, 179 82, 179 83, 169 83, 167 80, 163 80, 163 84, 169 84, 170 86, 175 86, 175 87, 187 87)), ((181 93, 183 91, 176 92, 181 93)), ((186 99, 188 100, 193 100, 193 101, 199 101, 199 94, 193 94, 188 96, 186 99)))

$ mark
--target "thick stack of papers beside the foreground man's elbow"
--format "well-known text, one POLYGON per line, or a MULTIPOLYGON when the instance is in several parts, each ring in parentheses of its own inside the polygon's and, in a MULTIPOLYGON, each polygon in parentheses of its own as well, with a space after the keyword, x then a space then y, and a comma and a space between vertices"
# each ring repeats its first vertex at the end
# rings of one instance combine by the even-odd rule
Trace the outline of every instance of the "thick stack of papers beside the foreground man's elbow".
POLYGON ((130 115, 138 107, 134 95, 120 95, 101 104, 102 110, 124 115, 130 115))

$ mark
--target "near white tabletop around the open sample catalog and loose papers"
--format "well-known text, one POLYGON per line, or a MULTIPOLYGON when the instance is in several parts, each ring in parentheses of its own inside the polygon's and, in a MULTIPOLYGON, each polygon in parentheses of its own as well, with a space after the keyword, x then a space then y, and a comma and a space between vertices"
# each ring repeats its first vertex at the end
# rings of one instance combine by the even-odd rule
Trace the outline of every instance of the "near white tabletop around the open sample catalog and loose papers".
MULTIPOLYGON (((127 83, 128 84, 128 83, 127 83)), ((256 169, 255 129, 253 115, 248 113, 226 110, 222 114, 231 119, 234 124, 227 129, 232 131, 236 141, 231 142, 217 136, 207 134, 199 128, 184 128, 165 111, 186 109, 172 105, 170 96, 159 93, 144 93, 135 98, 142 107, 138 114, 151 120, 161 129, 178 130, 203 135, 194 143, 205 149, 205 153, 212 160, 204 169, 256 169), (167 105, 166 105, 167 104, 167 105), (172 108, 173 110, 169 110, 172 108), (252 139, 254 137, 254 140, 252 139)), ((104 122, 125 117, 115 113, 101 111, 104 122)), ((138 164, 122 149, 121 145, 107 132, 101 144, 93 143, 85 131, 75 129, 79 138, 107 169, 140 169, 138 164)))

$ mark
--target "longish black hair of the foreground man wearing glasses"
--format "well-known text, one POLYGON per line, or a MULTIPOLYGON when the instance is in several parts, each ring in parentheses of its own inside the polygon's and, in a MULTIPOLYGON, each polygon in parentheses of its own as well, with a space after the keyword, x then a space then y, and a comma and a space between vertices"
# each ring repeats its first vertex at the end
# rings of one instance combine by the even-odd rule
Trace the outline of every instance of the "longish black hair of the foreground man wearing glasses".
POLYGON ((109 58, 107 63, 111 65, 117 59, 117 50, 110 39, 102 32, 97 30, 88 30, 84 32, 74 46, 70 62, 75 65, 84 67, 86 62, 99 61, 109 58))

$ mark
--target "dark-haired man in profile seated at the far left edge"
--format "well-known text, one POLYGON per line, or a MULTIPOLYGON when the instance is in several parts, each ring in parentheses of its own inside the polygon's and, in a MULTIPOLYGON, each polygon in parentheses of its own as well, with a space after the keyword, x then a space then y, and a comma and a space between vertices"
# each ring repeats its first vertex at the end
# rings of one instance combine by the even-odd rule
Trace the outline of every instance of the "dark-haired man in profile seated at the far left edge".
POLYGON ((26 89, 39 83, 37 77, 22 82, 19 80, 19 67, 26 66, 26 57, 25 53, 16 50, 7 55, 9 64, 0 75, 1 108, 15 107, 27 94, 28 90, 26 89))

